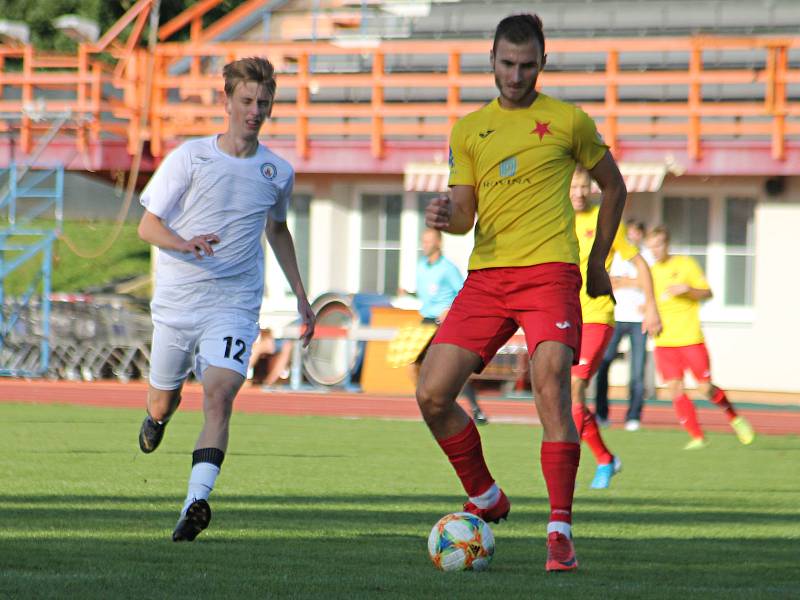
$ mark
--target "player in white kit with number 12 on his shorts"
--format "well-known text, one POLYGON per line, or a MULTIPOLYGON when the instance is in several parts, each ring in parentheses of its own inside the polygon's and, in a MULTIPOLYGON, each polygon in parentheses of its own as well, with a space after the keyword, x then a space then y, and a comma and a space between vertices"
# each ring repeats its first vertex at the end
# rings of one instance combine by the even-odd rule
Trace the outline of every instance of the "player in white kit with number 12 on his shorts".
POLYGON ((176 148, 141 195, 146 210, 139 236, 160 249, 150 305, 153 344, 147 416, 139 432, 142 452, 161 442, 191 370, 203 384, 205 424, 172 533, 176 542, 194 540, 211 520, 207 500, 259 331, 263 231, 297 297, 303 343, 314 333, 314 312, 286 227, 294 170, 258 141, 272 112, 273 66, 263 58, 245 58, 226 65, 223 77, 227 131, 176 148))

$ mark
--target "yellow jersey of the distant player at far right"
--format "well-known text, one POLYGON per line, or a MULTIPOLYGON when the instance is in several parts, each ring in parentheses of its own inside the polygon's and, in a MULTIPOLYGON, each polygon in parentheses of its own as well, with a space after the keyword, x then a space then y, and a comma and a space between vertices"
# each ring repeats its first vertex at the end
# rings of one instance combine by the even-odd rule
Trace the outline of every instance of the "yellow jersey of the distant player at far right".
POLYGON ((685 283, 707 290, 708 282, 700 265, 689 256, 670 256, 650 267, 653 292, 664 329, 656 336, 656 346, 691 346, 704 341, 700 328, 700 302, 685 295, 671 296, 667 288, 685 283))

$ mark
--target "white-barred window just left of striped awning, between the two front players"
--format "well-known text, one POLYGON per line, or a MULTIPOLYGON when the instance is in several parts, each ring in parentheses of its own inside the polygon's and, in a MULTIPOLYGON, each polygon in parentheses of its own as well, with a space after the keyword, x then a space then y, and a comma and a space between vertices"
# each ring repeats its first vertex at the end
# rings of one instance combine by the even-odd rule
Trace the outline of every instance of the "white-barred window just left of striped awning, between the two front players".
POLYGON ((394 295, 400 284, 400 195, 361 197, 362 292, 394 295))

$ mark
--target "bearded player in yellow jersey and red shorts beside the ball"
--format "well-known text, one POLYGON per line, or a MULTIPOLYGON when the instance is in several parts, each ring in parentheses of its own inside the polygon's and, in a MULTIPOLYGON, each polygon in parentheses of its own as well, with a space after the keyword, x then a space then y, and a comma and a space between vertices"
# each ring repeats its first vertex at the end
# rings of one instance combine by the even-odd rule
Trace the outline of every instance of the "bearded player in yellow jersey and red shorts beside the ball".
POLYGON ((570 366, 581 335, 578 243, 569 185, 576 163, 604 201, 586 268, 591 297, 611 293, 605 260, 625 206, 625 183, 594 122, 578 107, 536 91, 545 66, 542 22, 503 19, 490 62, 500 95, 456 122, 450 136, 450 194, 428 205, 428 227, 465 234, 475 226, 469 275, 420 370, 417 401, 456 471, 464 510, 499 522, 511 504, 486 466, 472 419, 455 402, 519 327, 525 332, 541 464, 550 498, 548 571, 578 566, 572 497, 580 438, 570 414, 570 366), (477 216, 477 223, 476 223, 477 216))

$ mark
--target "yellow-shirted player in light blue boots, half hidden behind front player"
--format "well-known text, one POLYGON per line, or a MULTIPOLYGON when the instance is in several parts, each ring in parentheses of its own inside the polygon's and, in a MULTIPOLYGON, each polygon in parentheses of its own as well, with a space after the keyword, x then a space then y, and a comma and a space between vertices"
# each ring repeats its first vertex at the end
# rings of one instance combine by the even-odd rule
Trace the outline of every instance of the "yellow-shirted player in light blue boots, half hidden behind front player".
MULTIPOLYGON (((581 256, 581 272, 585 273, 589 261, 589 253, 597 230, 597 214, 600 207, 589 204, 591 178, 582 167, 575 169, 570 185, 569 197, 575 209, 575 234, 578 237, 578 248, 581 256)), ((651 334, 661 331, 661 320, 653 298, 653 281, 645 260, 639 256, 639 250, 625 237, 625 228, 620 223, 611 244, 612 252, 606 258, 605 266, 611 268, 614 252, 631 261, 643 274, 642 283, 645 296, 642 330, 651 334)), ((593 489, 604 489, 611 483, 611 477, 619 473, 622 461, 608 451, 597 420, 593 412, 586 406, 586 387, 589 380, 597 372, 603 355, 614 333, 614 302, 611 296, 592 298, 586 293, 586 286, 581 287, 581 311, 583 313, 583 335, 578 364, 572 367, 572 418, 578 435, 591 448, 597 461, 597 471, 592 480, 593 489)))

